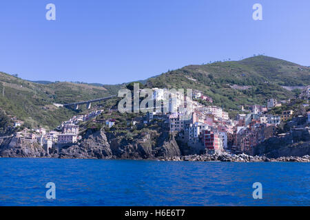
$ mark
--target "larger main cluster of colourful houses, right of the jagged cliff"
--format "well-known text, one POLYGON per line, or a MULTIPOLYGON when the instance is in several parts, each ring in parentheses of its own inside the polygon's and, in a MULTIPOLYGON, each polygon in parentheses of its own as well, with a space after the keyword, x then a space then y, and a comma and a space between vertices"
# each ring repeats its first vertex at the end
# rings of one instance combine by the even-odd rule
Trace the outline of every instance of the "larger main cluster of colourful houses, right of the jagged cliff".
MULTIPOLYGON (((309 88, 306 88, 308 94, 309 88)), ((163 96, 156 96, 157 94, 156 88, 154 97, 163 98, 163 96)), ((194 92, 194 98, 206 100, 204 97, 199 91, 194 92)), ((307 97, 309 98, 308 95, 307 97)), ((187 112, 179 111, 184 106, 179 104, 182 102, 176 101, 174 108, 169 108, 171 110, 169 113, 147 113, 148 120, 164 118, 169 124, 169 131, 178 132, 180 140, 186 142, 188 146, 205 148, 209 153, 227 150, 249 151, 264 140, 278 136, 278 124, 293 118, 293 110, 282 111, 281 115, 268 113, 269 110, 280 107, 282 103, 289 100, 278 102, 271 98, 267 101, 267 106, 253 104, 249 106, 247 113, 236 115, 234 120, 229 119, 228 113, 220 107, 205 106, 196 100, 185 98, 187 105, 189 102, 193 107, 190 117, 187 112)), ((242 110, 245 111, 243 107, 242 110)), ((310 122, 309 117, 310 113, 308 113, 308 122, 310 122)))

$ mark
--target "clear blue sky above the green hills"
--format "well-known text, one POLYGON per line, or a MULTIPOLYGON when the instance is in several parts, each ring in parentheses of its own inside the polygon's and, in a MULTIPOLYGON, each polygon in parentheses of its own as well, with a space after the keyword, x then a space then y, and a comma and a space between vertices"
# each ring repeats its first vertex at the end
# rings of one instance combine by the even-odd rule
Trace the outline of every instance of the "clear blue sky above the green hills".
POLYGON ((309 66, 309 52, 309 0, 0 1, 0 71, 29 80, 125 83, 263 53, 309 66))

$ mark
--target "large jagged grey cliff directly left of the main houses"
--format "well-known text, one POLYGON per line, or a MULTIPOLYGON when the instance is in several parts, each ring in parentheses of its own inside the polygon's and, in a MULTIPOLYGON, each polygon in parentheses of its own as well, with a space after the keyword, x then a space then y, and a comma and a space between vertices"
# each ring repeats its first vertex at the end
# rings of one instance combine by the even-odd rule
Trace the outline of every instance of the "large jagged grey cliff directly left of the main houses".
POLYGON ((105 134, 103 131, 87 133, 79 144, 62 148, 53 157, 60 158, 114 158, 154 159, 156 157, 180 156, 180 148, 173 135, 163 133, 155 140, 146 133, 134 140, 125 135, 105 134))

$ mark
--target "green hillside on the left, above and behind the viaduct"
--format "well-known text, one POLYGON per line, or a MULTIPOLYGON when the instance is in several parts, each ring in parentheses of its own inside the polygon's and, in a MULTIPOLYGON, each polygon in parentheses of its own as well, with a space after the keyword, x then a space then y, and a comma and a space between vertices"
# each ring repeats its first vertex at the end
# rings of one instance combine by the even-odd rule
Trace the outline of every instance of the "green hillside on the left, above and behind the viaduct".
MULTIPOLYGON (((103 86, 76 83, 33 83, 0 72, 0 110, 28 126, 54 128, 76 111, 56 108, 53 103, 70 103, 115 94, 120 85, 103 86), (3 92, 4 87, 4 92, 3 92)), ((83 111, 83 109, 79 110, 83 111)))

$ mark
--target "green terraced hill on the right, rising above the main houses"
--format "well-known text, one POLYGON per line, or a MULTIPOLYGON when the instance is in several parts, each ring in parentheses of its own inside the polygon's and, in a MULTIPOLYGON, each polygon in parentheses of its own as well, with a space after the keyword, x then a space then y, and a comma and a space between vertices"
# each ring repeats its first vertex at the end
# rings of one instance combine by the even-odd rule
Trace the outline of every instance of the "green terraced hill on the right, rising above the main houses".
POLYGON ((295 96, 282 86, 310 85, 310 68, 269 56, 242 61, 189 65, 147 80, 147 87, 192 88, 225 109, 242 104, 266 104, 267 99, 295 96))

